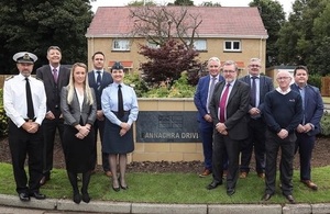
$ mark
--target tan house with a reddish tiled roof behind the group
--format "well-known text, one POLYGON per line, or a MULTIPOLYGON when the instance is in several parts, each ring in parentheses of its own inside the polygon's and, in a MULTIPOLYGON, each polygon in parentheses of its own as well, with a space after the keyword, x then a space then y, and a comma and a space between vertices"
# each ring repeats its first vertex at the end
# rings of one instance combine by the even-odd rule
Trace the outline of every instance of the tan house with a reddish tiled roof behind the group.
MULTIPOLYGON (((142 37, 132 37, 133 20, 130 18, 132 7, 99 7, 86 37, 88 40, 88 59, 95 52, 106 55, 106 65, 124 61, 125 68, 136 71, 146 59, 139 55, 139 43, 146 44, 142 37)), ((180 7, 172 7, 180 10, 180 7)), ((188 7, 188 13, 199 15, 202 20, 197 29, 195 48, 200 52, 199 59, 212 56, 220 59, 235 60, 246 74, 246 65, 252 57, 258 57, 265 68, 267 31, 264 27, 257 8, 249 7, 188 7)))

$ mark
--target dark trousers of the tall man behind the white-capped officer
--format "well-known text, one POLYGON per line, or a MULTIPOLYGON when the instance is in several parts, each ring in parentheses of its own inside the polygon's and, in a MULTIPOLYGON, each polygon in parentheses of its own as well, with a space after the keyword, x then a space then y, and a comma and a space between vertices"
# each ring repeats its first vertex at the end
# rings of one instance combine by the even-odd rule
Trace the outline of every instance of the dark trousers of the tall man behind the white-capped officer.
POLYGON ((54 155, 54 140, 56 135, 56 128, 58 131, 61 144, 63 147, 63 129, 64 129, 64 120, 54 119, 43 121, 43 136, 44 136, 44 150, 43 150, 43 173, 50 176, 51 170, 53 169, 53 155, 54 155))

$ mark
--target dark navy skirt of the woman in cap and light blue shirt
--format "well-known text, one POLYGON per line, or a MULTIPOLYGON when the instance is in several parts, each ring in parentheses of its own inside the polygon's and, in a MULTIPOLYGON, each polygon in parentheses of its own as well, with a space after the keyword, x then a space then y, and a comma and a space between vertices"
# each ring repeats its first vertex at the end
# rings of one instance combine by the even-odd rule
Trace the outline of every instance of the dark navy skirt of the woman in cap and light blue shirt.
MULTIPOLYGON (((117 114, 117 113, 114 113, 117 114)), ((123 122, 129 120, 130 112, 125 112, 124 116, 120 119, 123 122)), ((102 153, 106 154, 128 154, 134 150, 134 140, 133 140, 133 125, 124 134, 120 136, 121 127, 111 123, 106 119, 103 140, 102 140, 102 153)))

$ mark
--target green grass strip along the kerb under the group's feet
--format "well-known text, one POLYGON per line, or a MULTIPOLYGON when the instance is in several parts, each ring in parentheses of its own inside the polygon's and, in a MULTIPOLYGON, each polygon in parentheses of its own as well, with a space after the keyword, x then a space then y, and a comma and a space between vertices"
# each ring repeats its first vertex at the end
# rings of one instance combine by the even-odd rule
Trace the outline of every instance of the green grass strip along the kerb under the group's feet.
MULTIPOLYGON (((330 166, 315 168, 314 181, 318 191, 311 191, 299 182, 299 172, 294 173, 294 196, 298 203, 330 202, 330 166)), ((198 178, 195 173, 128 173, 129 190, 114 192, 110 180, 99 172, 91 177, 89 193, 92 200, 174 203, 174 204, 257 204, 264 193, 264 180, 250 173, 246 179, 239 179, 237 193, 226 194, 226 185, 209 191, 206 185, 211 178, 198 178)), ((0 193, 15 193, 15 184, 10 164, 0 164, 0 193)), ((81 183, 79 183, 81 184, 81 183)), ((278 187, 270 203, 287 203, 278 187)), ((54 169, 52 180, 42 187, 41 192, 52 199, 72 199, 72 187, 64 169, 54 169)))

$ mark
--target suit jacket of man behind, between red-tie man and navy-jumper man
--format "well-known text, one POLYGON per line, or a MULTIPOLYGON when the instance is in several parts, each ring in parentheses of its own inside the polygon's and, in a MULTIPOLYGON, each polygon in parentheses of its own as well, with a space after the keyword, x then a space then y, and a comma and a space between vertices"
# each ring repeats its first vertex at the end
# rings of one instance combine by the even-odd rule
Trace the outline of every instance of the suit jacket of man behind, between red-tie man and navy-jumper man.
MULTIPOLYGON (((241 81, 248 83, 251 87, 250 75, 246 75, 240 79, 241 81)), ((263 113, 264 110, 264 100, 267 92, 274 90, 273 80, 266 76, 260 76, 260 103, 257 109, 263 113)), ((253 108, 252 103, 249 104, 249 111, 253 108)))

